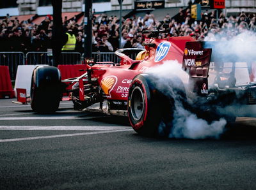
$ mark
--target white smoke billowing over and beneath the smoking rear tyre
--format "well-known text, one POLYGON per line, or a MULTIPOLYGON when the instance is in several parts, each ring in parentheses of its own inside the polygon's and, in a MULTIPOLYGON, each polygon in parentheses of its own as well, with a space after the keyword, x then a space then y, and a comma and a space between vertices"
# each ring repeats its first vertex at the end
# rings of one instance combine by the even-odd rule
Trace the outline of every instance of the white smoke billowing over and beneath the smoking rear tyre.
MULTIPOLYGON (((164 64, 148 69, 148 73, 152 73, 157 77, 157 89, 168 92, 172 96, 179 96, 173 92, 173 87, 166 86, 166 80, 172 78, 173 75, 182 79, 183 84, 188 85, 188 74, 181 69, 181 64, 178 61, 166 61, 164 64), (167 89, 168 88, 168 89, 167 89)), ((179 82, 177 82, 179 84, 179 82)), ((176 86, 178 87, 178 86, 176 86)), ((220 121, 213 121, 210 124, 204 119, 200 119, 195 113, 186 110, 180 101, 180 97, 173 97, 175 101, 175 111, 173 113, 172 130, 168 135, 170 138, 190 138, 190 139, 203 139, 203 138, 219 138, 223 133, 227 122, 225 119, 220 121)), ((164 122, 159 125, 159 133, 167 128, 164 122)))

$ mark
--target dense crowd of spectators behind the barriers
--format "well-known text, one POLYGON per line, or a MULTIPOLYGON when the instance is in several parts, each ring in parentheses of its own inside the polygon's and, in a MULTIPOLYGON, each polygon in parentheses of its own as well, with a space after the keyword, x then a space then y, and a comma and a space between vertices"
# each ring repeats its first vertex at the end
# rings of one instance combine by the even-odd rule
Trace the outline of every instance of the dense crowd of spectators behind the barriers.
MULTIPOLYGON (((256 15, 242 12, 237 17, 226 17, 223 13, 216 15, 216 11, 204 11, 202 20, 191 18, 189 8, 171 18, 166 15, 157 20, 154 15, 146 13, 145 17, 122 19, 122 40, 119 47, 119 18, 102 14, 93 17, 93 52, 115 52, 118 48, 143 48, 143 30, 162 29, 168 25, 165 33, 159 33, 158 38, 172 36, 191 36, 198 41, 229 40, 244 31, 256 32, 256 15)), ((76 36, 74 52, 84 52, 84 29, 77 24, 76 18, 63 22, 63 32, 72 30, 76 36)), ((18 18, 10 19, 9 15, 0 20, 0 52, 46 52, 51 49, 52 17, 36 25, 31 20, 20 22, 18 18)))

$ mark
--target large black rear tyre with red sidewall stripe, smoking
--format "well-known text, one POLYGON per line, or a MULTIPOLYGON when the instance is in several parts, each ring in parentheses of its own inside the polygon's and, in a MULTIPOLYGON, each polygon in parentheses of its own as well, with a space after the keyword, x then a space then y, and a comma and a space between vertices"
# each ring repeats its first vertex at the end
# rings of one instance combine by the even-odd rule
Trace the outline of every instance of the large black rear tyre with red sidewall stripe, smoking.
MULTIPOLYGON (((143 73, 134 77, 129 89, 129 121, 134 131, 143 136, 166 136, 172 129, 175 99, 172 93, 159 91, 156 81, 156 77, 143 73)), ((169 80, 165 85, 172 84, 169 80)))

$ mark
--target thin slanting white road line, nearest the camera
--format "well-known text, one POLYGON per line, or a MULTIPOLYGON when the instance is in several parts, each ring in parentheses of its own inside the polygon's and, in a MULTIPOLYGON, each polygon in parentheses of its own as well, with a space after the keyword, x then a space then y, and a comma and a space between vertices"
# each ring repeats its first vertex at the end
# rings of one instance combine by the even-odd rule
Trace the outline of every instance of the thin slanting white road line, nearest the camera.
POLYGON ((103 133, 118 133, 124 131, 132 131, 133 129, 119 129, 113 131, 95 131, 95 132, 87 132, 87 133, 73 133, 73 134, 64 134, 64 135, 49 135, 49 136, 33 136, 33 137, 25 137, 25 138, 10 138, 10 139, 2 139, 0 143, 3 142, 17 142, 23 140, 38 140, 44 138, 60 138, 60 137, 68 137, 68 136, 82 136, 82 135, 96 135, 96 134, 103 134, 103 133))

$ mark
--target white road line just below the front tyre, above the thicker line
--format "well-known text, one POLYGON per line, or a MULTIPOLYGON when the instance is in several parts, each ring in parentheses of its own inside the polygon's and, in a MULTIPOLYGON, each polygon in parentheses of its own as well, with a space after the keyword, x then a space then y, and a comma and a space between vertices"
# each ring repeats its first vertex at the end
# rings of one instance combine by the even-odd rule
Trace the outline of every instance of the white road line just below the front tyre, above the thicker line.
POLYGON ((95 117, 77 117, 77 116, 45 116, 45 117, 0 117, 0 121, 13 121, 13 120, 64 120, 64 119, 91 119, 91 118, 97 118, 95 117))

